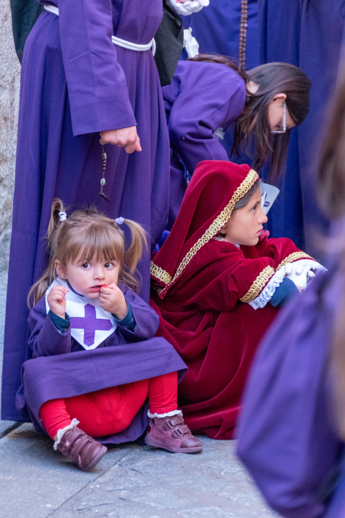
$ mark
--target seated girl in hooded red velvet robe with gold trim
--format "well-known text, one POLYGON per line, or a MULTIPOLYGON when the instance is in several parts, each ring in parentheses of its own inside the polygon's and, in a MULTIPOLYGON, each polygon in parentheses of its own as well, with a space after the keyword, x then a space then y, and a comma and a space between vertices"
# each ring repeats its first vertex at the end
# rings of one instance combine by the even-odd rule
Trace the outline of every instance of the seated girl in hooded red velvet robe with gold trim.
POLYGON ((251 359, 278 307, 322 268, 290 239, 268 239, 258 179, 248 165, 201 162, 151 265, 157 335, 189 368, 179 406, 214 439, 233 437, 251 359))

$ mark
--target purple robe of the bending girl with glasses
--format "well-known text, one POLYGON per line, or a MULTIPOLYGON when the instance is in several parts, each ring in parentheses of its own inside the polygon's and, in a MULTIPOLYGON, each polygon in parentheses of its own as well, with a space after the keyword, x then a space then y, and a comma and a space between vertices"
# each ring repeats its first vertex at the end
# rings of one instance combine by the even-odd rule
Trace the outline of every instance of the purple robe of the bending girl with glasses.
POLYGON ((192 175, 202 160, 229 160, 213 134, 239 116, 247 93, 244 80, 227 65, 194 61, 179 61, 172 83, 162 91, 171 148, 171 228, 187 188, 184 165, 192 175))

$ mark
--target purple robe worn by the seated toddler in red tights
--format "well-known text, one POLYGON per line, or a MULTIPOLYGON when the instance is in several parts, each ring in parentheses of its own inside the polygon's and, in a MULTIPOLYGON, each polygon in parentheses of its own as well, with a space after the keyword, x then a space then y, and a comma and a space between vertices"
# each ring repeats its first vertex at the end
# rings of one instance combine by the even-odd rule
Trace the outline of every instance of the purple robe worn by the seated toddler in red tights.
MULTIPOLYGON (((16 396, 22 420, 29 420, 38 431, 46 432, 39 410, 50 399, 94 392, 179 371, 181 381, 187 370, 185 363, 164 338, 154 338, 158 315, 138 295, 121 286, 129 302, 137 326, 133 331, 118 323, 114 333, 96 349, 85 350, 71 337, 56 329, 47 315, 46 298, 42 297, 29 313, 31 335, 23 364, 22 385, 16 396)), ((140 437, 147 425, 147 401, 138 410, 131 424, 102 442, 119 443, 140 437)))

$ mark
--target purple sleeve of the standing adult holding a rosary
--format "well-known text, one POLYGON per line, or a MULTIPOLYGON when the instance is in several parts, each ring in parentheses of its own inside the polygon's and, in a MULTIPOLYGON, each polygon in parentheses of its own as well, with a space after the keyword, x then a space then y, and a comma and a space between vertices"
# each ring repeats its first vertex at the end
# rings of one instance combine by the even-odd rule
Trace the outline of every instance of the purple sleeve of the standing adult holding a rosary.
POLYGON ((111 41, 111 0, 59 0, 58 8, 73 135, 136 125, 111 41))

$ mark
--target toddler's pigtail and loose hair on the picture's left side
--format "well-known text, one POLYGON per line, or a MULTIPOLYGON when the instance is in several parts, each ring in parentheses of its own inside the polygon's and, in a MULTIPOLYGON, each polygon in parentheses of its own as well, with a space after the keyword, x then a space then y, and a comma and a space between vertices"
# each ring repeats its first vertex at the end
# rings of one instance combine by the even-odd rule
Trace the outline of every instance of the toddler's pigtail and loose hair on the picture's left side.
POLYGON ((48 251, 51 258, 48 268, 44 271, 44 274, 38 279, 38 281, 35 282, 28 293, 27 305, 29 309, 38 303, 39 299, 44 295, 44 293, 46 293, 48 287, 56 278, 55 260, 53 255, 56 249, 58 229, 61 228, 61 224, 65 219, 66 212, 64 204, 61 199, 55 198, 52 203, 52 210, 46 235, 48 251))

